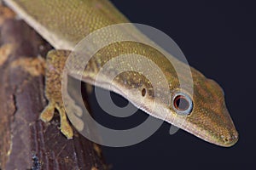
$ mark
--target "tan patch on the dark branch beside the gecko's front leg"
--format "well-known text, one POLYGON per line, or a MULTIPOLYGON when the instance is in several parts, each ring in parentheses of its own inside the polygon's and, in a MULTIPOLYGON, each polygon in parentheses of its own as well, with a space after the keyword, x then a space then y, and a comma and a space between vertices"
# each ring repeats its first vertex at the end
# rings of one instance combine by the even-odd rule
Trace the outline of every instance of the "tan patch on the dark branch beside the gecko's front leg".
POLYGON ((45 60, 43 58, 21 58, 12 62, 11 67, 21 67, 33 77, 44 75, 45 60))

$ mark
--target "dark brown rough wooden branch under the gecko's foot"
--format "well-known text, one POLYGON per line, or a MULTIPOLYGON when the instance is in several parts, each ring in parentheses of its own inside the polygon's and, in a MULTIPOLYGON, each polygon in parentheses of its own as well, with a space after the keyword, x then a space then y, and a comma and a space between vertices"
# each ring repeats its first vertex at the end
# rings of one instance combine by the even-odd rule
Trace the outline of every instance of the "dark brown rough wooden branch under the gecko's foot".
POLYGON ((61 134, 59 116, 38 119, 49 44, 3 6, 0 31, 0 169, 106 169, 98 145, 75 129, 74 139, 61 134))

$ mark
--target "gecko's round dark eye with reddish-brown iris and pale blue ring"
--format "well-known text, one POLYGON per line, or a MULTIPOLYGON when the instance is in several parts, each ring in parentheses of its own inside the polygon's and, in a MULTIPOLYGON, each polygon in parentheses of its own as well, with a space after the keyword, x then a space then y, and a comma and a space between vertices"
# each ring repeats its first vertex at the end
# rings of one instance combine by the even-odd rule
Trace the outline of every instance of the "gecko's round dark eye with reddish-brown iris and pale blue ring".
POLYGON ((178 93, 172 100, 174 110, 180 115, 189 115, 193 109, 193 102, 187 94, 178 93))

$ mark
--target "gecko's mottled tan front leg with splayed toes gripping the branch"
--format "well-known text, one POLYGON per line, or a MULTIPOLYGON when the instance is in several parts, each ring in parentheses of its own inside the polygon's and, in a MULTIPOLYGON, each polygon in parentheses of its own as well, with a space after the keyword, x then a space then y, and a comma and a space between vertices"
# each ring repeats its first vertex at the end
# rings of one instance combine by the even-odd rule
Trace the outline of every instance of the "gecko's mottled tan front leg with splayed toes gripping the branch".
MULTIPOLYGON (((67 114, 62 100, 62 95, 64 95, 64 97, 68 99, 71 99, 71 97, 69 97, 67 93, 61 94, 61 80, 62 78, 67 78, 67 74, 63 73, 63 68, 69 54, 70 52, 64 50, 52 50, 47 54, 45 95, 46 98, 49 100, 49 104, 45 107, 44 111, 42 111, 40 118, 44 122, 51 121, 56 109, 60 114, 61 133, 63 133, 67 137, 67 139, 72 139, 73 128, 67 121, 67 114)), ((67 85, 64 84, 63 87, 67 88, 67 85)), ((78 106, 76 105, 74 105, 73 108, 74 111, 79 110, 78 106)))

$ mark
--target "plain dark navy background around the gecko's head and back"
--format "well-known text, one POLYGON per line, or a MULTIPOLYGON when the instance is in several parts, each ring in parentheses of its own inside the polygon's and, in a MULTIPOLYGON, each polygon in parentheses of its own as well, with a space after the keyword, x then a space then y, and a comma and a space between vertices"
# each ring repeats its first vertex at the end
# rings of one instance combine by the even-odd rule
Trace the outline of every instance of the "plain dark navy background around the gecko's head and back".
MULTIPOLYGON (((124 148, 103 147, 103 154, 113 170, 255 169, 256 5, 253 1, 112 2, 132 22, 153 26, 172 37, 190 65, 224 88, 226 105, 240 135, 234 146, 224 148, 183 130, 170 135, 171 126, 164 123, 140 144, 124 148)), ((125 99, 112 97, 125 105, 125 99)), ((97 105, 93 110, 100 117, 104 116, 97 105)), ((113 128, 125 128, 145 118, 147 115, 141 111, 126 120, 108 116, 104 120, 113 128)))

